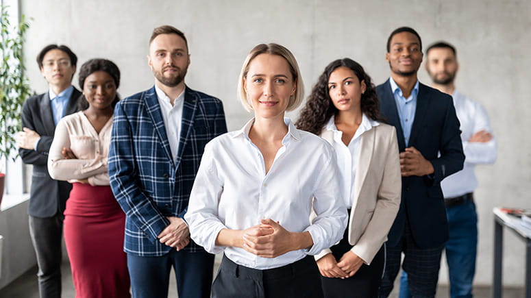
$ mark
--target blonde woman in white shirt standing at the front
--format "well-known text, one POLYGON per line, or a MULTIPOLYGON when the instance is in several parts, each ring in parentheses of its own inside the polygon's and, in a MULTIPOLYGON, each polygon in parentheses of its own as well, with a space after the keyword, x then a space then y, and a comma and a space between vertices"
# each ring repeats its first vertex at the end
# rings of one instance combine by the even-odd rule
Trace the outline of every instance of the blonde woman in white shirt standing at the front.
POLYGON ((288 49, 257 45, 238 82, 254 119, 206 145, 185 219, 196 243, 225 253, 212 297, 323 297, 309 255, 341 238, 347 214, 334 149, 284 118, 303 90, 288 49))

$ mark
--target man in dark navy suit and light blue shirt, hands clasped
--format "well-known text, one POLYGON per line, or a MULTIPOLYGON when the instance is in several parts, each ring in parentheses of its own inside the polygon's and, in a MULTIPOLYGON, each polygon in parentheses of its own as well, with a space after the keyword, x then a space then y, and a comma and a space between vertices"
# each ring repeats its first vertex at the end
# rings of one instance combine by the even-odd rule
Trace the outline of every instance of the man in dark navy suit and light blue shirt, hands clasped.
POLYGON ((397 129, 402 202, 388 234, 380 297, 388 297, 404 253, 412 297, 434 297, 443 245, 448 238, 441 181, 465 160, 452 97, 420 84, 421 38, 395 29, 387 40, 391 77, 378 86, 382 116, 397 129))

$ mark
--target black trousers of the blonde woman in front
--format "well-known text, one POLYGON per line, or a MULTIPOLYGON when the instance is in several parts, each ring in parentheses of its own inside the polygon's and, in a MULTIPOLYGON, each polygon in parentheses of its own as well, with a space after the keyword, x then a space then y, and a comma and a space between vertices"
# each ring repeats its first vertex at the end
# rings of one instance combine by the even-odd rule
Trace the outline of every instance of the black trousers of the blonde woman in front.
POLYGON ((323 298, 312 256, 275 269, 251 269, 223 256, 212 298, 323 298))

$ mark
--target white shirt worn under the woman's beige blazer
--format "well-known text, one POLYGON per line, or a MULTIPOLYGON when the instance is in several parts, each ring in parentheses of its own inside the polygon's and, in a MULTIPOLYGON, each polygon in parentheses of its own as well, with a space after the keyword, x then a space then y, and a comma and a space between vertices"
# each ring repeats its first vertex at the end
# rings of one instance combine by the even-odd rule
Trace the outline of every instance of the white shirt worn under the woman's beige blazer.
POLYGON ((341 179, 341 189, 343 190, 343 200, 347 209, 352 208, 354 201, 354 178, 356 178, 356 169, 358 168, 360 156, 360 137, 364 132, 379 124, 378 121, 373 121, 365 116, 365 114, 362 114, 360 126, 356 129, 356 133, 351 138, 348 146, 341 140, 343 132, 337 129, 334 116, 325 125, 326 130, 334 132, 333 146, 336 150, 339 173, 341 173, 341 177, 343 178, 341 179))

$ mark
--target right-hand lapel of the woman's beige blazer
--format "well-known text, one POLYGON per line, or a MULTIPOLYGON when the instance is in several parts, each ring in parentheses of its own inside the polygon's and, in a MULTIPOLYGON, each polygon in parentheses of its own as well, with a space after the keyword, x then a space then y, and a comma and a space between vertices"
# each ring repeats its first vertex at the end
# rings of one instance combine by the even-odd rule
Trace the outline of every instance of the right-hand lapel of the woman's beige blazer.
POLYGON ((356 177, 354 177, 354 200, 352 202, 352 209, 356 208, 356 205, 358 204, 361 186, 363 185, 363 182, 365 182, 367 171, 369 171, 369 165, 371 164, 371 158, 373 156, 374 142, 376 140, 376 129, 378 129, 378 127, 373 127, 361 135, 360 156, 358 156, 358 168, 356 169, 356 177))

